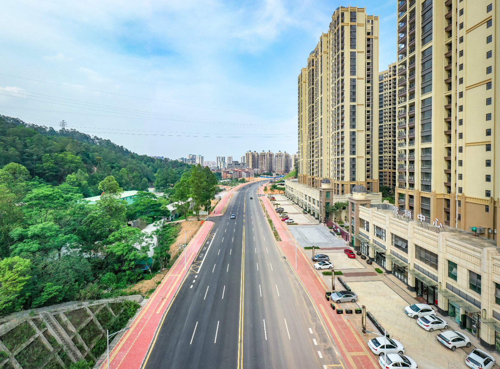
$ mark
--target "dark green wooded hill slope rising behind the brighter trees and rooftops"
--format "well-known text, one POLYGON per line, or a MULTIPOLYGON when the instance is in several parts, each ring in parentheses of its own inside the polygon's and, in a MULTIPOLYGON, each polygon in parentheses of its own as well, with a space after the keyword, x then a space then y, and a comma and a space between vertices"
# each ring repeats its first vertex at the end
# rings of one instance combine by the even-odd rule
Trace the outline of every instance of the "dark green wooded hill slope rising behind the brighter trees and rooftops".
POLYGON ((83 197, 99 195, 98 183, 112 175, 124 190, 168 188, 190 165, 138 155, 109 140, 78 132, 27 124, 0 116, 0 168, 8 163, 26 167, 32 178, 58 185, 68 180, 83 197))

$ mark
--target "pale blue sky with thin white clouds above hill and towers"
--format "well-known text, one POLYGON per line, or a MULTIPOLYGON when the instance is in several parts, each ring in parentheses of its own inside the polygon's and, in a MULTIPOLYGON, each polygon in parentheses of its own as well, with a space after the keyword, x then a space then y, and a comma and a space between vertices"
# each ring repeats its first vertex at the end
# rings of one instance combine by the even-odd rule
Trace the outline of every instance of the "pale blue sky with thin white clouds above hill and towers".
MULTIPOLYGON (((172 159, 293 153, 296 78, 338 5, 5 2, 0 114, 55 127, 64 119, 68 128, 172 159)), ((396 3, 357 5, 380 16, 383 70, 396 57, 396 3)))

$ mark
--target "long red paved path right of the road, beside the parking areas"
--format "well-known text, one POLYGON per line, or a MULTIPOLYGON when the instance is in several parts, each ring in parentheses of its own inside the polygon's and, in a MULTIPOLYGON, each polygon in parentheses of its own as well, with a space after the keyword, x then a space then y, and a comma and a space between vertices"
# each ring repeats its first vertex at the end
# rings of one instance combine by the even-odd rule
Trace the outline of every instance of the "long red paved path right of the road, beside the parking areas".
MULTIPOLYGON (((263 188, 259 188, 259 194, 263 194, 263 188)), ((295 265, 295 240, 288 228, 276 215, 269 199, 262 196, 262 200, 271 217, 274 227, 281 238, 278 242, 286 258, 294 267, 295 265), (289 240, 289 241, 288 241, 289 240)), ((324 298, 326 287, 313 269, 309 257, 306 257, 301 247, 297 248, 297 269, 295 271, 311 296, 314 304, 319 310, 328 331, 335 342, 348 369, 370 369, 379 368, 377 358, 369 351, 361 337, 360 327, 355 327, 351 320, 337 315, 330 307, 330 302, 324 298)))

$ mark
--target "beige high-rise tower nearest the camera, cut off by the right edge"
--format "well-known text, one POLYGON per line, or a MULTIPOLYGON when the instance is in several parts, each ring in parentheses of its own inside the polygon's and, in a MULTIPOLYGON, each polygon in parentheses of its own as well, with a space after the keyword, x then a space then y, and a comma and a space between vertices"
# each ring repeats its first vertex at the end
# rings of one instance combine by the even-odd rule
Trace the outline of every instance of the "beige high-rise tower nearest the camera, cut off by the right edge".
POLYGON ((499 9, 491 0, 396 6, 399 207, 496 239, 499 9))

